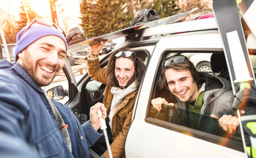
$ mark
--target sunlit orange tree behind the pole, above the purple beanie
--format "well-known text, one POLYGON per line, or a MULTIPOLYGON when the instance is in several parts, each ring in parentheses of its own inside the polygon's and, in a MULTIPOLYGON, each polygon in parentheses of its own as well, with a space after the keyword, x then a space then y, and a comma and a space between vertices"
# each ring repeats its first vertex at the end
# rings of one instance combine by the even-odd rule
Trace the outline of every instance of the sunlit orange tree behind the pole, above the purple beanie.
MULTIPOLYGON (((29 1, 26 1, 25 3, 25 7, 28 13, 28 18, 30 20, 30 22, 33 20, 33 18, 40 18, 39 15, 36 14, 36 12, 33 10, 33 7, 31 5, 31 3, 29 1)), ((20 6, 20 20, 17 21, 17 26, 16 26, 16 30, 17 33, 24 27, 27 25, 27 17, 26 17, 26 12, 23 8, 23 3, 21 2, 21 6, 20 6)))

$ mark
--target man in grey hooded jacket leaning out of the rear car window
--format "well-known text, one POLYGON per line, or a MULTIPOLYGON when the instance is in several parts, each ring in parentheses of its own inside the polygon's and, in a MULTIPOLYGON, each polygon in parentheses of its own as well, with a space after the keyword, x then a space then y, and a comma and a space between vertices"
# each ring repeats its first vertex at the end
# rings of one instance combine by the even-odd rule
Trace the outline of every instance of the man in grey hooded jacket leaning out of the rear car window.
POLYGON ((184 55, 170 57, 162 63, 161 88, 167 88, 174 97, 151 100, 156 110, 162 104, 184 108, 196 113, 219 118, 223 130, 233 133, 239 125, 232 109, 233 93, 228 80, 198 72, 194 64, 184 55))

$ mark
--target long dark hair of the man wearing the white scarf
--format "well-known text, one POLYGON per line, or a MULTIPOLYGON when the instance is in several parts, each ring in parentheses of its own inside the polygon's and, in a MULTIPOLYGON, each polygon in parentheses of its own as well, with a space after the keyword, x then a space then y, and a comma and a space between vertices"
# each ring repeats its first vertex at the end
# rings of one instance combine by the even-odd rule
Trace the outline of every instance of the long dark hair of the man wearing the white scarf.
POLYGON ((107 82, 110 86, 112 87, 120 87, 118 84, 118 80, 115 78, 115 60, 118 58, 128 58, 133 61, 134 64, 134 74, 131 80, 128 81, 127 85, 125 88, 127 88, 131 83, 136 81, 136 88, 139 88, 139 84, 141 82, 141 78, 143 75, 143 72, 145 70, 145 65, 141 58, 139 57, 139 53, 136 53, 132 50, 129 50, 128 48, 120 48, 118 50, 115 50, 111 55, 108 60, 108 68, 107 68, 107 82), (119 57, 115 56, 115 53, 118 53, 119 51, 125 52, 125 51, 131 51, 133 54, 130 57, 125 57, 125 53, 122 53, 119 57))

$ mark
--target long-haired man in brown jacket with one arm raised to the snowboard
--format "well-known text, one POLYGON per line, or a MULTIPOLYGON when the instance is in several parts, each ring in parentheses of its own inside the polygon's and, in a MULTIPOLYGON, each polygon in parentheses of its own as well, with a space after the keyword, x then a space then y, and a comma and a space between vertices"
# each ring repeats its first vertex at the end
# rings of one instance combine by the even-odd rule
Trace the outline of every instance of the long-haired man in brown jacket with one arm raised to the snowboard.
MULTIPOLYGON (((110 55, 107 68, 100 68, 98 55, 106 42, 91 47, 92 52, 87 56, 87 70, 92 79, 106 85, 103 104, 113 131, 110 148, 114 158, 124 158, 125 138, 145 65, 139 53, 121 48, 110 55)), ((108 150, 104 156, 109 157, 108 150)))

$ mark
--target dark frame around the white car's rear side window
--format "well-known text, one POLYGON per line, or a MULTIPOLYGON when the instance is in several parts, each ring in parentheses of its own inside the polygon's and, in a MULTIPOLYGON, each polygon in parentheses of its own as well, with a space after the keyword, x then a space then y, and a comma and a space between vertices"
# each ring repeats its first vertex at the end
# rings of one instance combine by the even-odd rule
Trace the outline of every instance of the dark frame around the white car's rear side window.
POLYGON ((218 135, 213 135, 213 134, 203 132, 200 130, 195 130, 195 129, 192 129, 192 128, 189 128, 189 127, 186 127, 183 125, 177 125, 177 124, 170 123, 167 121, 159 120, 159 119, 152 118, 149 116, 150 109, 151 109, 151 99, 153 98, 153 96, 156 93, 157 80, 161 73, 161 63, 164 60, 164 58, 166 57, 166 55, 169 53, 224 53, 224 52, 223 52, 223 50, 212 50, 211 51, 211 50, 206 50, 206 49, 205 50, 165 50, 165 51, 163 51, 160 55, 159 62, 157 65, 157 73, 155 73, 155 75, 154 75, 154 79, 153 79, 154 81, 151 86, 148 105, 147 105, 147 109, 146 109, 146 116, 144 118, 145 122, 150 123, 152 125, 159 126, 161 128, 166 128, 168 130, 173 130, 178 133, 189 135, 194 138, 205 140, 210 143, 215 143, 215 144, 222 145, 222 146, 234 149, 234 150, 244 152, 242 142, 232 140, 229 138, 225 138, 222 136, 218 136, 218 135))

